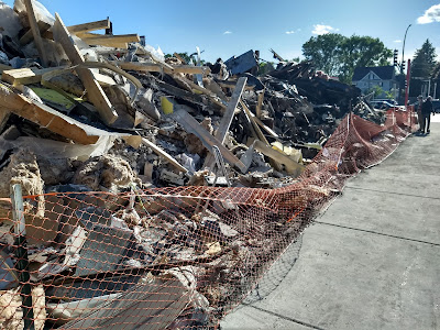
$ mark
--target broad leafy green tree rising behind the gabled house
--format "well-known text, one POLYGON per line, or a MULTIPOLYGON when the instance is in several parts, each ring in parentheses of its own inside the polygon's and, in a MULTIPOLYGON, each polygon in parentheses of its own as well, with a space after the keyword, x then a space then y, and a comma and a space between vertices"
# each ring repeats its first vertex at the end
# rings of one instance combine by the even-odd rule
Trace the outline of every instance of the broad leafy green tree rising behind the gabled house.
POLYGON ((302 54, 317 69, 351 84, 356 67, 388 65, 393 52, 378 38, 329 33, 310 37, 302 45, 302 54))

